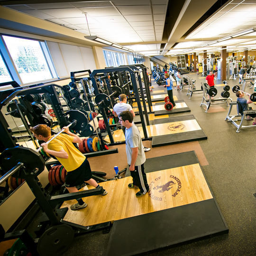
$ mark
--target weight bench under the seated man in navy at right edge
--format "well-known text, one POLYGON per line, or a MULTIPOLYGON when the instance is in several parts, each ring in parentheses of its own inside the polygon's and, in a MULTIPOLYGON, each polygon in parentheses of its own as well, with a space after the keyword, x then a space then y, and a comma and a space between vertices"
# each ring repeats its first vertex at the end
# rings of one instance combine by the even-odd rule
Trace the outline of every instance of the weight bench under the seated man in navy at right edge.
POLYGON ((229 105, 230 105, 229 112, 228 112, 228 115, 225 120, 228 122, 231 122, 236 128, 238 128, 236 132, 240 132, 241 129, 256 128, 256 125, 248 125, 248 126, 243 125, 243 123, 246 119, 246 116, 249 114, 256 114, 256 110, 243 111, 241 103, 239 101, 237 101, 237 102, 231 101, 229 103, 229 105), (237 105, 237 112, 238 112, 237 115, 230 115, 233 105, 237 105), (235 119, 235 118, 237 118, 237 119, 235 119), (238 121, 240 121, 240 124, 236 123, 238 121))

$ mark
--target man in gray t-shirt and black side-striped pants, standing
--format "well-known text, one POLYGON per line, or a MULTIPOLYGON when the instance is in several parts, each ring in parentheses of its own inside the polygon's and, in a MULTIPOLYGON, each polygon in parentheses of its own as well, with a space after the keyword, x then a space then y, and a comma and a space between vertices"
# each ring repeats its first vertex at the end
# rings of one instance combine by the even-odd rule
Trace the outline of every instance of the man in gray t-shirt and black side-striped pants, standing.
POLYGON ((128 184, 128 188, 139 188, 136 196, 143 196, 149 191, 149 185, 144 172, 146 156, 140 133, 133 123, 133 115, 130 111, 123 111, 119 114, 119 123, 126 128, 126 155, 133 182, 128 184))

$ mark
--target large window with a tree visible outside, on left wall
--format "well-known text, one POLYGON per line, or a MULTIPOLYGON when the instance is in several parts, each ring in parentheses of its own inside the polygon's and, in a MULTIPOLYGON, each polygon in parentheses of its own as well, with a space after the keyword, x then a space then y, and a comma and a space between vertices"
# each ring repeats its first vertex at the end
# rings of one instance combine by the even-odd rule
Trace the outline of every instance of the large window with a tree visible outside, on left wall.
POLYGON ((9 36, 3 36, 3 39, 23 84, 57 77, 49 67, 48 53, 43 51, 46 48, 44 42, 9 36))

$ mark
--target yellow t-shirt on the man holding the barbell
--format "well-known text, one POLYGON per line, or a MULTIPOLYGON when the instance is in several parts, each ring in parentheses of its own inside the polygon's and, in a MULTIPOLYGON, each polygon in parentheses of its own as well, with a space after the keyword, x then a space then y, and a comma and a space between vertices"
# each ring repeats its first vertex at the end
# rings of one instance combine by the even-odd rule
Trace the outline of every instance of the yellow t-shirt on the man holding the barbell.
MULTIPOLYGON (((51 136, 48 140, 52 137, 54 136, 51 136)), ((67 159, 56 157, 67 172, 77 169, 85 160, 85 156, 73 145, 73 139, 73 136, 62 133, 48 144, 48 148, 51 150, 61 151, 64 149, 67 152, 67 159)))

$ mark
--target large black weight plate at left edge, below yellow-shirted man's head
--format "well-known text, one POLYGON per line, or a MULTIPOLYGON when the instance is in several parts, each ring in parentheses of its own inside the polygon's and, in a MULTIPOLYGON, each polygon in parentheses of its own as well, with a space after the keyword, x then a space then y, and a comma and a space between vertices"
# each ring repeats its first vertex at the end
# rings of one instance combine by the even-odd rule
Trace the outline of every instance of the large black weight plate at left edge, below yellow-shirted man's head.
MULTIPOLYGON (((45 160, 42 155, 40 155, 35 150, 23 147, 15 146, 12 148, 5 149, 0 155, 0 165, 5 173, 9 172, 15 165, 19 162, 24 164, 29 175, 34 169, 38 169, 35 176, 42 173, 45 169, 45 160)), ((25 179, 26 175, 23 172, 16 172, 12 174, 15 178, 25 179)))

